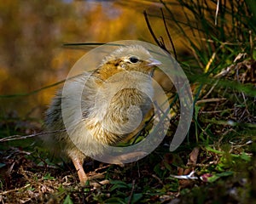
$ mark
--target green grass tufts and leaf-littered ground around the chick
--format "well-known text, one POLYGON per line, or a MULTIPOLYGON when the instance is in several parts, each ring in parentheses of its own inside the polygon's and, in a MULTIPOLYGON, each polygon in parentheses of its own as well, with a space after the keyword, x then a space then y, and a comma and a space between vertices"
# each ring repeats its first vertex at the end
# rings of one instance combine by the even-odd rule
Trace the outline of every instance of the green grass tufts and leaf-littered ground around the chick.
MULTIPOLYGON (((160 3, 163 15, 146 14, 149 28, 150 20, 159 18, 163 26, 166 22, 166 33, 172 30, 176 33, 160 40, 155 37, 156 43, 172 53, 173 48, 167 45, 178 35, 189 49, 184 54, 177 52, 177 60, 191 83, 195 105, 193 122, 183 144, 175 152, 169 152, 165 144, 172 141, 171 129, 163 143, 143 160, 125 167, 89 162, 85 170, 91 178, 109 181, 91 189, 79 186, 70 163, 52 161, 48 153, 32 145, 32 139, 24 139, 25 145, 24 140, 4 142, 0 148, 0 201, 68 204, 256 201, 255 3, 253 0, 160 3), (180 13, 174 14, 174 9, 180 13)), ((154 36, 166 35, 151 29, 154 36)), ((1 138, 38 129, 34 119, 13 118, 1 116, 1 138)), ((178 115, 171 122, 175 127, 178 115)))

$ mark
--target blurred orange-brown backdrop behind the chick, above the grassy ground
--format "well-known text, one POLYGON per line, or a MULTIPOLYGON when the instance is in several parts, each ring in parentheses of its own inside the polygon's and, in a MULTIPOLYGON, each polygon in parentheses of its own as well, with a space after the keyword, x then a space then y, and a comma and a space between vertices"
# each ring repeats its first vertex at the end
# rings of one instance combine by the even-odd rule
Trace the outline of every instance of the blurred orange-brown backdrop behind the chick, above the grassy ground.
MULTIPOLYGON (((172 5, 175 14, 179 14, 172 5)), ((0 115, 44 117, 54 86, 31 93, 67 77, 85 47, 66 42, 143 40, 154 43, 143 11, 157 35, 165 37, 158 1, 0 1, 0 115), (2 2, 2 3, 1 3, 2 2)), ((170 30, 178 53, 189 52, 182 37, 170 30)), ((154 43, 155 44, 155 43, 154 43)), ((169 48, 170 44, 166 43, 169 48)))

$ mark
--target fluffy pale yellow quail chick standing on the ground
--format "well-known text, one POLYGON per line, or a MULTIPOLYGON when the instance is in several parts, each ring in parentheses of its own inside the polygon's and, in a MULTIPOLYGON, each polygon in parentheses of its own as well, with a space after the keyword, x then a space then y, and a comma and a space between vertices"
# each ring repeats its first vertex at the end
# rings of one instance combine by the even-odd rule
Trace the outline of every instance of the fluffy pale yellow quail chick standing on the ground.
POLYGON ((73 161, 81 184, 88 180, 84 159, 102 154, 101 144, 117 144, 143 127, 152 108, 151 77, 157 65, 160 61, 142 46, 117 48, 95 71, 68 80, 65 92, 56 94, 45 120, 46 129, 55 133, 49 134, 46 144, 73 161), (134 125, 137 108, 142 121, 134 125))

